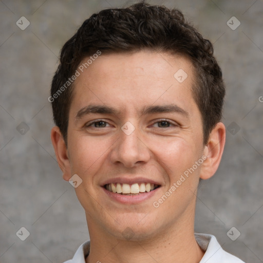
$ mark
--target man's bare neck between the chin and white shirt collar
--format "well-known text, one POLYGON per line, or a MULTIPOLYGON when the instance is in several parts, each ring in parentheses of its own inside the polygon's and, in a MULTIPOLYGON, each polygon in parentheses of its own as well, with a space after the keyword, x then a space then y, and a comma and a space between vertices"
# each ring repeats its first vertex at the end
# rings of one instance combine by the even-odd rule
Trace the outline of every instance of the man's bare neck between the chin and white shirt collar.
MULTIPOLYGON (((100 238, 98 229, 90 231, 90 253, 86 262, 198 263, 204 252, 195 240, 193 218, 182 222, 143 240, 123 240, 105 233, 100 238)), ((96 229, 90 224, 89 227, 96 229)))

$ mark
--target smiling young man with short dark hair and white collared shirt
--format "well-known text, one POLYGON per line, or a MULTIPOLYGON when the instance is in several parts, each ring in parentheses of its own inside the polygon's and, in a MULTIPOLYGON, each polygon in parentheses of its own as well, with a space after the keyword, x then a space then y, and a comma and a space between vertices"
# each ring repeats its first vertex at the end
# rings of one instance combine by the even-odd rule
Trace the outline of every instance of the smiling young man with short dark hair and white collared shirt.
POLYGON ((212 44, 179 10, 139 3, 83 23, 49 97, 90 235, 67 262, 243 262, 194 233, 198 183, 223 153, 224 94, 212 44))

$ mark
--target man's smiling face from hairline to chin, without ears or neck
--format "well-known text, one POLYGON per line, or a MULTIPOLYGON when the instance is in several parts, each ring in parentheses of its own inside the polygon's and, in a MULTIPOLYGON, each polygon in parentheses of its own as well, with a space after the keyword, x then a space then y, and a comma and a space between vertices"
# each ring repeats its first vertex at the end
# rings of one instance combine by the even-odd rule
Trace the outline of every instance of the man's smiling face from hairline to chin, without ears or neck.
POLYGON ((64 178, 82 179, 76 193, 90 231, 123 238, 130 228, 134 238, 145 238, 193 219, 201 173, 196 162, 204 154, 193 78, 189 60, 152 51, 102 52, 77 78, 68 124, 70 171, 64 178), (182 82, 186 75, 175 75, 179 69, 187 73, 182 82), (97 108, 88 110, 92 106, 97 108), (185 171, 191 171, 188 177, 185 171), (149 184, 157 188, 147 192, 149 184), (114 193, 115 188, 141 193, 114 193))

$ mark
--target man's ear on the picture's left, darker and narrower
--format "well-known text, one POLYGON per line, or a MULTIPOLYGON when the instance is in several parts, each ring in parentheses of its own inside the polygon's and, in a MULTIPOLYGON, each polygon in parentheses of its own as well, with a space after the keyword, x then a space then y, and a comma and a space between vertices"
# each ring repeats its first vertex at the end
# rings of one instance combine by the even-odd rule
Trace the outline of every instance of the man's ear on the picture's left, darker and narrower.
POLYGON ((67 147, 58 126, 55 126, 51 129, 51 141, 60 169, 63 172, 63 179, 68 181, 71 177, 70 162, 68 158, 67 147))

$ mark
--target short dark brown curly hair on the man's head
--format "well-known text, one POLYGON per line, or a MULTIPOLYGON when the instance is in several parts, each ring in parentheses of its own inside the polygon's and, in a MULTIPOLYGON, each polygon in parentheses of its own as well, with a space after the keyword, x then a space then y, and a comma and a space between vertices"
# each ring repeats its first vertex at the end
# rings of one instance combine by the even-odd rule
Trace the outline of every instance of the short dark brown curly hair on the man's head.
POLYGON ((48 100, 66 144, 74 84, 68 80, 80 62, 98 50, 107 54, 143 49, 170 52, 191 60, 195 71, 192 93, 202 116, 203 143, 207 143, 211 130, 221 120, 226 92, 213 45, 185 20, 180 10, 140 2, 92 14, 63 46, 48 100), (63 92, 58 94, 63 85, 63 92))

